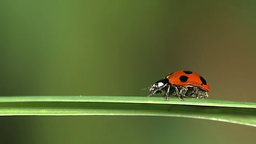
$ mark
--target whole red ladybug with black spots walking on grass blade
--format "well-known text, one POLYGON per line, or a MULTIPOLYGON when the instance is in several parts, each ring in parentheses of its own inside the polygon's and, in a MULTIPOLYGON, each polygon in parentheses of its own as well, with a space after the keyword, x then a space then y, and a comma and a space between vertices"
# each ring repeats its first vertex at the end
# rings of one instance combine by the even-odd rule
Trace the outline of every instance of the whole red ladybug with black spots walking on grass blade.
POLYGON ((152 84, 149 91, 148 97, 153 94, 163 94, 165 100, 170 95, 178 96, 180 100, 183 100, 183 96, 206 99, 210 87, 206 80, 196 72, 180 70, 152 84))

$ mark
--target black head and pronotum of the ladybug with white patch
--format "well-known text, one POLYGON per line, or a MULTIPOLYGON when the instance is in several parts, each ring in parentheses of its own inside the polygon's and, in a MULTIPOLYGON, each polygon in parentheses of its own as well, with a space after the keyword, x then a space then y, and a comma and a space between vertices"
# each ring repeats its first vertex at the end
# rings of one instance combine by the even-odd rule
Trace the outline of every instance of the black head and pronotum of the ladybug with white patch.
POLYGON ((164 78, 162 80, 159 80, 158 82, 152 84, 149 87, 149 94, 148 96, 151 96, 152 94, 160 94, 164 92, 165 87, 169 84, 169 81, 167 78, 164 78))

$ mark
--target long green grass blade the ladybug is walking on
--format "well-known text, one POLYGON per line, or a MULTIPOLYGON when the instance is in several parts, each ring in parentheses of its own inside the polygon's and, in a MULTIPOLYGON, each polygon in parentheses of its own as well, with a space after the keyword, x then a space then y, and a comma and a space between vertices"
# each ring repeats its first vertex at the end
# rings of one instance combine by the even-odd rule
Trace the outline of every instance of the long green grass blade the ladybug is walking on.
POLYGON ((0 115, 177 116, 256 126, 256 103, 132 96, 2 96, 0 115))

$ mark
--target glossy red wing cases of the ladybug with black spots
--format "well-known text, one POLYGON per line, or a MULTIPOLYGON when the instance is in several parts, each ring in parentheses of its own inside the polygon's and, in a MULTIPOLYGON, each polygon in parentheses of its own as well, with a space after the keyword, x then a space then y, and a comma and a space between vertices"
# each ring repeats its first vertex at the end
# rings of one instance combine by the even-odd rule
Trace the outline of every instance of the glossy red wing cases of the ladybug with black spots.
POLYGON ((174 84, 176 86, 190 85, 202 88, 203 90, 210 92, 210 87, 206 80, 204 80, 202 76, 195 72, 180 70, 170 74, 166 78, 168 78, 171 84, 174 84))

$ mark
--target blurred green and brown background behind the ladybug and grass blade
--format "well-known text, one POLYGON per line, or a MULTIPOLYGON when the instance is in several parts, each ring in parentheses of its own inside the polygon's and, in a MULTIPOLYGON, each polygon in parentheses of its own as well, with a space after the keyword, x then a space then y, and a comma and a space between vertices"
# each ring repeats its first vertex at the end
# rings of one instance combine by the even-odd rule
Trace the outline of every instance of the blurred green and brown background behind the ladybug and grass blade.
MULTIPOLYGON (((191 70, 256 102, 256 2, 0 0, 0 95, 147 96, 191 70)), ((164 98, 163 98, 164 100, 164 98)), ((249 126, 153 116, 1 116, 1 143, 241 144, 249 126)))

